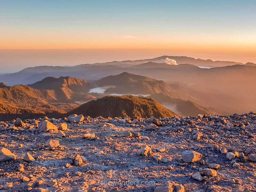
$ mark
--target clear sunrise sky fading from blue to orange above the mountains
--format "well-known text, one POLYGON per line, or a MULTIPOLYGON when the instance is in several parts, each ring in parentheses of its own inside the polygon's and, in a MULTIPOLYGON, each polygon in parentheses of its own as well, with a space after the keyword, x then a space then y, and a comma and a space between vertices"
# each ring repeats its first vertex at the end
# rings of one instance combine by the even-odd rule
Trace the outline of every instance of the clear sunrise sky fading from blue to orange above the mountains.
POLYGON ((256 1, 0 4, 0 73, 162 55, 256 63, 256 1))

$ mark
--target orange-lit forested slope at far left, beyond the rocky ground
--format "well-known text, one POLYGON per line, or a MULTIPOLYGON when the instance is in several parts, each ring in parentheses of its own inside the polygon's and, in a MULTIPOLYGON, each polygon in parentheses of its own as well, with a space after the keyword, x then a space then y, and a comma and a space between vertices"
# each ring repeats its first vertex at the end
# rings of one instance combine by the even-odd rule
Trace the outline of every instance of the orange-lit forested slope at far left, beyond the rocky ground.
POLYGON ((38 90, 25 85, 0 88, 0 121, 44 115, 58 117, 77 106, 57 103, 53 90, 38 90))

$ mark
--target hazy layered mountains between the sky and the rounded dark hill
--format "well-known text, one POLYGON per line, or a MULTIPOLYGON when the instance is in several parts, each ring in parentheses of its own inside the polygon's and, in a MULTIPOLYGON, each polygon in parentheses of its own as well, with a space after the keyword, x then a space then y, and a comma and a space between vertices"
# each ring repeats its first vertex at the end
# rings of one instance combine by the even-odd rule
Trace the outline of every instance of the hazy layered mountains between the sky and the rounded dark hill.
MULTIPOLYGON (((0 113, 24 110, 36 110, 35 113, 40 114, 54 111, 66 113, 77 106, 74 102, 82 103, 107 94, 157 93, 164 93, 170 97, 169 100, 176 102, 170 102, 169 106, 175 105, 173 111, 177 114, 187 115, 188 111, 193 114, 198 111, 218 114, 255 111, 256 67, 254 63, 241 64, 162 56, 146 60, 113 61, 73 67, 26 68, 17 73, 0 75, 0 82, 6 83, 0 84, 0 113), (175 59, 179 65, 166 64, 163 61, 166 57, 175 59), (190 63, 186 64, 185 61, 190 63), (200 64, 202 61, 215 63, 216 66, 235 65, 202 69, 197 67, 205 66, 200 64), (181 64, 183 62, 184 64, 181 64), (20 83, 28 86, 9 87, 20 83), (104 94, 88 93, 92 88, 105 86, 108 86, 108 89, 104 94), (25 99, 21 102, 19 98, 25 99), (32 100, 35 102, 31 102, 32 100), (34 103, 39 104, 35 106, 34 103), (68 103, 69 106, 67 109, 59 108, 60 103, 68 103), (183 107, 179 106, 183 104, 190 106, 191 110, 181 110, 183 107)), ((159 99, 158 101, 166 104, 159 99)))

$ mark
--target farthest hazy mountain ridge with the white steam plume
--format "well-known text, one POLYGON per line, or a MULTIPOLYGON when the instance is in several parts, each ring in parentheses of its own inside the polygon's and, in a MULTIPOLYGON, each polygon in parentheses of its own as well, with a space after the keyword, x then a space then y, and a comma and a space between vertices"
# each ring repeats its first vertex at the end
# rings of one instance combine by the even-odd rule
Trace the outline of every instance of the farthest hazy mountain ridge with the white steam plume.
MULTIPOLYGON (((112 61, 105 63, 83 64, 77 66, 38 66, 29 67, 16 73, 2 74, 0 75, 0 82, 5 82, 7 85, 15 84, 33 84, 46 77, 61 77, 71 76, 74 78, 81 78, 87 81, 99 80, 102 77, 106 77, 113 74, 119 74, 121 72, 131 72, 134 74, 144 75, 155 79, 162 79, 158 76, 152 76, 150 69, 167 68, 169 70, 189 70, 203 71, 195 66, 206 67, 224 67, 231 65, 243 65, 243 63, 231 62, 231 61, 212 61, 195 59, 184 56, 161 56, 152 59, 143 59, 135 61, 112 61), (168 65, 165 63, 165 58, 174 59, 177 61, 178 66, 168 65), (190 64, 190 65, 182 65, 190 64), (142 73, 137 69, 142 69, 142 73)), ((249 65, 249 64, 248 64, 249 65)), ((247 66, 248 66, 247 65, 247 66)), ((250 65, 251 66, 251 65, 250 65)), ((164 80, 164 79, 162 79, 164 80)))

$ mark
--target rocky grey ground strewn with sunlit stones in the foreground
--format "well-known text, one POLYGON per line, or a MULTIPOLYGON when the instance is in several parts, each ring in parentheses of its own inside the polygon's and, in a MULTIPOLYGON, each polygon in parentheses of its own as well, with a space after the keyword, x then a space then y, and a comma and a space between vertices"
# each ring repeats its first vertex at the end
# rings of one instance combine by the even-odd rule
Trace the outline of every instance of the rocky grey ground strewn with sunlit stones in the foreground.
POLYGON ((0 122, 0 191, 256 191, 256 114, 0 122))

